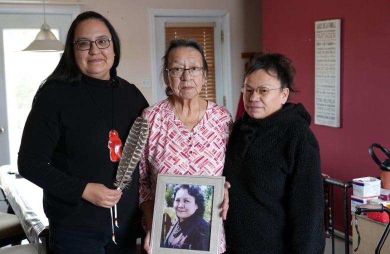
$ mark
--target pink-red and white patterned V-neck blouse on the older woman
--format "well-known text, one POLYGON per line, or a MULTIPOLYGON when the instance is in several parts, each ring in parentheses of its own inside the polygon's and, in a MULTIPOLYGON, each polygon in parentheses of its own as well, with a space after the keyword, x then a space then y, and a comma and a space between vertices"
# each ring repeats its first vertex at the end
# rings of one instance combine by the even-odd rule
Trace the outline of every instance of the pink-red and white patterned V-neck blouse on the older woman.
MULTIPOLYGON (((191 131, 174 115, 168 99, 145 108, 149 137, 139 161, 139 203, 154 200, 157 174, 222 175, 232 128, 230 112, 208 101, 191 131)), ((225 251, 222 228, 221 253, 225 251)))

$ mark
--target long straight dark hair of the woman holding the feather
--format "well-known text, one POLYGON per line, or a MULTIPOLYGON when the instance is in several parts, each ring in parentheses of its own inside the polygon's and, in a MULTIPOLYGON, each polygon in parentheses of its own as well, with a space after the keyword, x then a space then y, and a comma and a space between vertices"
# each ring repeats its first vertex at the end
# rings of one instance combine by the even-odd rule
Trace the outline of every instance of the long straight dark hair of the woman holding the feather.
POLYGON ((77 17, 70 24, 69 30, 66 35, 65 48, 63 50, 63 54, 59 59, 59 62, 55 67, 55 69, 53 70, 53 72, 40 83, 39 88, 36 91, 35 96, 32 100, 32 104, 35 102, 36 96, 38 95, 38 93, 41 91, 41 89, 46 83, 51 83, 51 82, 73 83, 81 80, 81 76, 82 76, 81 71, 77 67, 77 64, 74 59, 73 38, 74 38, 74 31, 77 28, 77 26, 82 21, 85 21, 87 19, 98 19, 102 21, 107 26, 109 32, 111 33, 111 37, 112 37, 111 43, 113 45, 115 56, 114 56, 112 67, 109 70, 109 74, 111 77, 116 76, 116 67, 119 64, 119 59, 120 59, 119 36, 116 33, 113 26, 111 25, 111 23, 101 14, 94 11, 84 11, 78 14, 77 17))

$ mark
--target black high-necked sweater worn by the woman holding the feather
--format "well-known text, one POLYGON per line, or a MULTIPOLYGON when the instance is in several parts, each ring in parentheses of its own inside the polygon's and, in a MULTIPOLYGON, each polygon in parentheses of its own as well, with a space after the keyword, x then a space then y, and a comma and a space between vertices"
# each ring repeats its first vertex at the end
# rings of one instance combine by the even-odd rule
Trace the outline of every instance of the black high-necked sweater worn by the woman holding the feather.
MULTIPOLYGON (((117 130, 124 145, 133 121, 148 106, 134 84, 118 76, 113 80, 83 75, 79 83, 46 84, 27 117, 18 169, 43 188, 43 208, 50 222, 99 225, 111 221, 109 209, 81 195, 88 182, 114 188, 118 162, 109 159, 108 132, 117 130)), ((124 190, 117 204, 118 218, 136 212, 136 185, 124 190)))

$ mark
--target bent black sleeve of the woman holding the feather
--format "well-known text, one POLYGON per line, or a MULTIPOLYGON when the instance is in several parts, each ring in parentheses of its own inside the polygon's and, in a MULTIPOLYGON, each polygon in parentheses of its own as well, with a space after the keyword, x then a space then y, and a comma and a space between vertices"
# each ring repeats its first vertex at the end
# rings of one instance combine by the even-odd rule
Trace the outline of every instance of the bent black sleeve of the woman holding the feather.
POLYGON ((61 134, 59 97, 50 86, 39 93, 24 125, 18 170, 20 175, 53 196, 78 205, 87 182, 50 164, 61 134))

